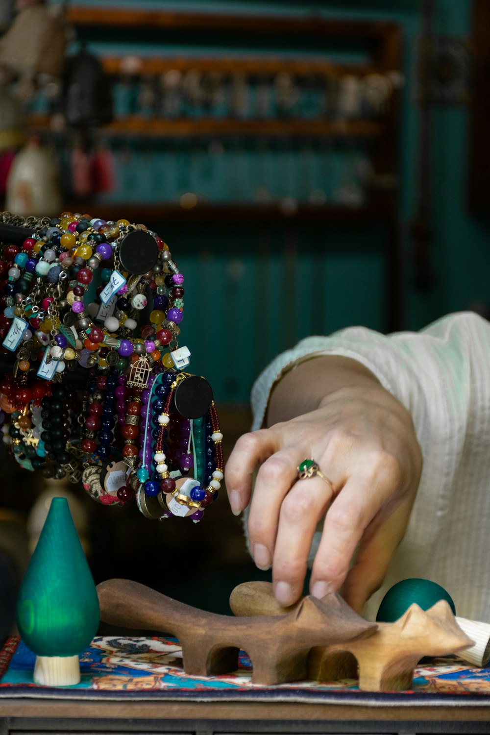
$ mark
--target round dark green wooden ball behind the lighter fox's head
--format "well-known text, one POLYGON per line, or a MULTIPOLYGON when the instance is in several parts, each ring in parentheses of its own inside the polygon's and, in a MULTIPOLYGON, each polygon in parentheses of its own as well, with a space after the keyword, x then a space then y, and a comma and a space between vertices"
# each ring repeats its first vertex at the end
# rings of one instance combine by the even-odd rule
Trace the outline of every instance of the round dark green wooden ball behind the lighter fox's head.
POLYGON ((431 582, 430 579, 403 579, 386 592, 379 606, 376 622, 394 623, 412 603, 417 603, 422 610, 428 610, 439 600, 446 600, 453 614, 456 614, 451 596, 440 584, 431 582))

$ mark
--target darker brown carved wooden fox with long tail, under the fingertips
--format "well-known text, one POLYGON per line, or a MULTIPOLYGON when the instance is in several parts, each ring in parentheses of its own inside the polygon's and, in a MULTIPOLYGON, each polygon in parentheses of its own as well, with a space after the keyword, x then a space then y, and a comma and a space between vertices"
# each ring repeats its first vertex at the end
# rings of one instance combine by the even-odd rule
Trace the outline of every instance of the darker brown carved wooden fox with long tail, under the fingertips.
POLYGON ((239 649, 245 650, 252 659, 254 684, 306 678, 311 648, 368 636, 377 627, 339 595, 304 598, 293 612, 273 617, 231 617, 203 612, 126 579, 102 582, 97 592, 105 623, 178 637, 188 674, 235 671, 239 649))

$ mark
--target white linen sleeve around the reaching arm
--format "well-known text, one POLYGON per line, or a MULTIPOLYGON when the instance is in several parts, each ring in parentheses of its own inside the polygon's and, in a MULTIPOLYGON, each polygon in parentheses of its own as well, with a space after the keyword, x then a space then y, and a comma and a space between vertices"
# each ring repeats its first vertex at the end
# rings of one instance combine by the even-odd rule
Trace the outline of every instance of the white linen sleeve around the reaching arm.
POLYGON ((464 612, 458 614, 475 618, 483 605, 490 620, 490 565, 483 553, 490 519, 490 324, 461 312, 419 332, 385 336, 351 327, 308 337, 256 380, 253 429, 262 426, 275 381, 301 360, 328 354, 370 370, 408 409, 422 448, 411 520, 381 592, 399 578, 432 578, 460 599, 464 612))

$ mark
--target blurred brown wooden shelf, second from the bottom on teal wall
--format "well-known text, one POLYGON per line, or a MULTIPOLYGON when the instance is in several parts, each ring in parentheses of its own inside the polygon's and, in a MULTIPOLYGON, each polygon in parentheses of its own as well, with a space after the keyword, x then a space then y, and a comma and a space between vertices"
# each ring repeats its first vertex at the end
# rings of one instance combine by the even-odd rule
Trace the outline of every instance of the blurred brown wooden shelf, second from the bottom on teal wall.
MULTIPOLYGON (((29 127, 33 131, 48 131, 62 135, 65 129, 52 129, 49 115, 32 115, 29 127)), ((138 135, 148 137, 179 137, 190 135, 320 135, 325 137, 376 137, 385 126, 380 121, 359 118, 342 120, 239 120, 233 118, 186 118, 162 120, 131 115, 96 129, 96 135, 138 135)))

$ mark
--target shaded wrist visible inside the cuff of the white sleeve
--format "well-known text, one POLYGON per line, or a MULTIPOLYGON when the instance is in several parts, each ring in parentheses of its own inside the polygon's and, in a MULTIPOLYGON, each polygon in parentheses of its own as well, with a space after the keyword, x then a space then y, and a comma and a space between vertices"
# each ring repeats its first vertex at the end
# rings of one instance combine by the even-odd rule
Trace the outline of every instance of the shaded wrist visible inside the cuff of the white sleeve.
POLYGON ((320 355, 300 362, 273 387, 265 426, 314 411, 336 390, 363 386, 384 391, 370 370, 356 360, 320 355))

